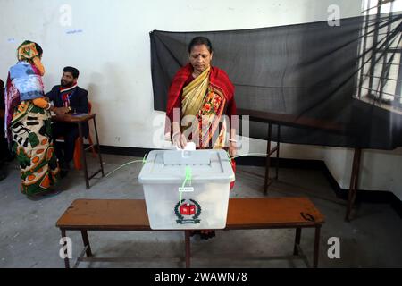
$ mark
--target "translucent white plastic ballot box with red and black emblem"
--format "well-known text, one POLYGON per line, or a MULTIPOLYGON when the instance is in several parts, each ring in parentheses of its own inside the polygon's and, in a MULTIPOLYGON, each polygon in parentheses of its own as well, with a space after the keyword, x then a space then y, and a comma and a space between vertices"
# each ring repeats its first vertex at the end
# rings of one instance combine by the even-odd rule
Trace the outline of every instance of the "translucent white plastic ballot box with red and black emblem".
POLYGON ((154 230, 223 229, 234 180, 222 149, 154 150, 138 176, 154 230))

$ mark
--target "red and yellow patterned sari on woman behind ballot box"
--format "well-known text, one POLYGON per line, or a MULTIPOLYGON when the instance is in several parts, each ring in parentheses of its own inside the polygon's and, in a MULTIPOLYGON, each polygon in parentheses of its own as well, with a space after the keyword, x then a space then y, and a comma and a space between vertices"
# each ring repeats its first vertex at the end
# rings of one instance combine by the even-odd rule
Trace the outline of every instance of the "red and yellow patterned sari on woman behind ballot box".
MULTIPOLYGON (((181 132, 188 140, 196 143, 197 149, 228 150, 226 135, 230 131, 228 128, 230 122, 223 120, 222 116, 226 115, 230 120, 232 115, 236 115, 233 84, 225 71, 211 67, 186 85, 192 71, 193 68, 188 63, 172 80, 166 108, 169 120, 165 124, 165 138, 172 137, 171 122, 176 120, 173 109, 181 106, 181 115, 178 119, 181 132), (186 122, 188 115, 189 120, 186 122)), ((233 171, 236 172, 234 159, 231 160, 231 164, 233 171)), ((230 183, 230 189, 233 186, 234 181, 230 183)))

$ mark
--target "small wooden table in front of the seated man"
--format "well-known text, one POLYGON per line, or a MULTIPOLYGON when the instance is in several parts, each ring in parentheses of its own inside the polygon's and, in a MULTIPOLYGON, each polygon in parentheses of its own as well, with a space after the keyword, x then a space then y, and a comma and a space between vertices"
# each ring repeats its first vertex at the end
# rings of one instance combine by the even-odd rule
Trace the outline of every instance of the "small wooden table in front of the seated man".
POLYGON ((100 144, 99 144, 99 137, 97 135, 97 128, 96 128, 96 114, 63 114, 63 115, 55 115, 52 117, 52 120, 54 122, 63 122, 63 123, 71 123, 71 124, 77 124, 78 129, 79 129, 79 139, 80 139, 80 147, 81 147, 81 154, 82 154, 82 162, 84 164, 84 175, 85 175, 85 184, 87 189, 89 189, 89 180, 94 178, 96 174, 99 172, 102 172, 102 177, 105 176, 104 172, 104 164, 102 162, 102 155, 101 155, 101 149, 100 149, 100 144), (84 147, 84 136, 83 136, 83 130, 82 130, 82 125, 85 122, 93 120, 94 121, 94 128, 95 128, 95 135, 96 135, 96 143, 90 145, 89 147, 85 148, 84 147), (90 176, 88 176, 88 164, 87 164, 87 156, 85 151, 87 151, 91 147, 97 147, 97 156, 99 158, 99 164, 100 168, 96 171, 93 172, 90 176))

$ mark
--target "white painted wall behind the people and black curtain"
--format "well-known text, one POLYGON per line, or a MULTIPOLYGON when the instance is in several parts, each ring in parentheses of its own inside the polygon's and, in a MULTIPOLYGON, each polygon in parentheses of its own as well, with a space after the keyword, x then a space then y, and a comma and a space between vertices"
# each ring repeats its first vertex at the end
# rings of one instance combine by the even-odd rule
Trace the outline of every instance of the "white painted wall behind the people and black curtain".
MULTIPOLYGON (((37 41, 45 51, 47 90, 58 84, 63 66, 80 69, 79 83, 89 90, 103 145, 156 147, 153 138, 158 127, 153 122, 163 113, 153 110, 150 31, 250 29, 324 21, 331 4, 338 4, 341 18, 348 18, 360 14, 360 2, 0 0, 0 78, 5 79, 15 63, 16 47, 25 39, 37 41), (61 24, 63 4, 71 6, 71 27, 61 24)), ((264 141, 251 140, 250 152, 264 153, 265 148, 264 141)), ((283 145, 281 156, 325 160, 341 186, 348 185, 348 170, 342 169, 348 168, 351 158, 345 150, 283 145)), ((376 166, 369 169, 388 164, 388 157, 394 158, 374 156, 371 164, 376 166)), ((369 171, 373 180, 367 189, 400 188, 401 184, 395 187, 373 172, 369 171)))

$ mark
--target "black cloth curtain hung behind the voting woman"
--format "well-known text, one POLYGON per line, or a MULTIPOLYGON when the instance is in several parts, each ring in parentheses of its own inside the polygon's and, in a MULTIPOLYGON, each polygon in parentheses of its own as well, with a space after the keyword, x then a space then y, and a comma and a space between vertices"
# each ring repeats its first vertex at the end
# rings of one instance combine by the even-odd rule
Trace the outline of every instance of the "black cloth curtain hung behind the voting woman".
MULTIPOLYGON (((362 27, 376 27, 379 21, 381 25, 392 22, 391 32, 400 32, 401 15, 388 14, 381 19, 341 19, 340 26, 333 27, 320 21, 230 31, 155 30, 150 33, 155 110, 165 111, 172 78, 188 63, 190 40, 205 36, 214 47, 213 65, 226 71, 235 85, 238 108, 309 122, 282 126, 281 142, 379 149, 402 146, 402 116, 354 97, 359 59, 365 53, 367 61, 381 48, 374 43, 366 49, 369 52, 361 51, 362 39, 370 36, 362 27)), ((250 137, 266 139, 267 124, 250 122, 250 137)))

